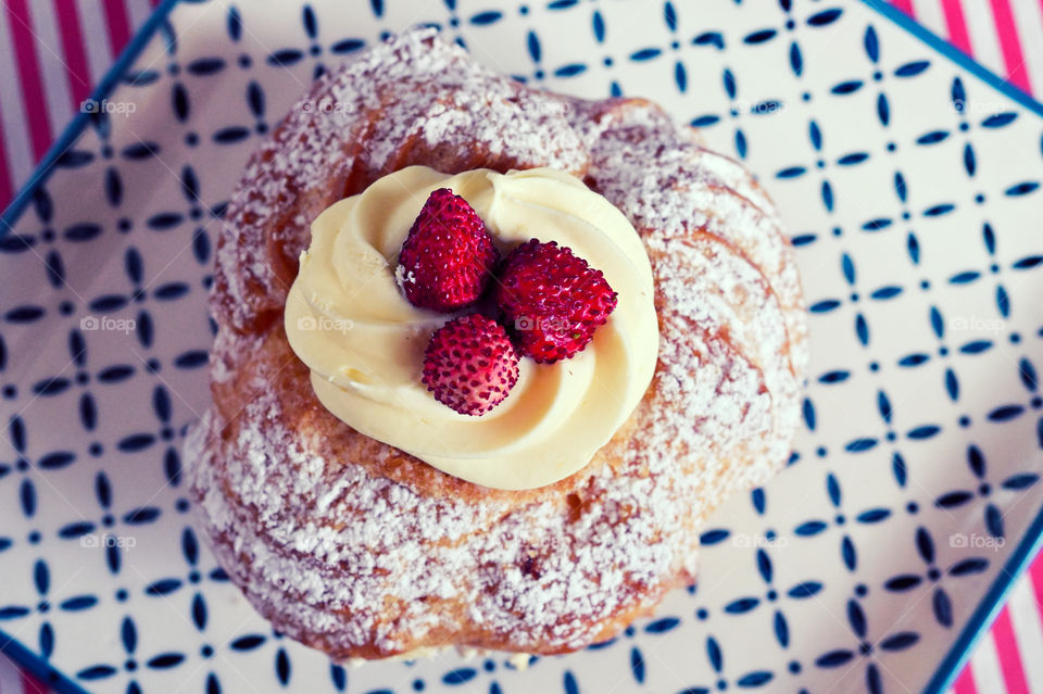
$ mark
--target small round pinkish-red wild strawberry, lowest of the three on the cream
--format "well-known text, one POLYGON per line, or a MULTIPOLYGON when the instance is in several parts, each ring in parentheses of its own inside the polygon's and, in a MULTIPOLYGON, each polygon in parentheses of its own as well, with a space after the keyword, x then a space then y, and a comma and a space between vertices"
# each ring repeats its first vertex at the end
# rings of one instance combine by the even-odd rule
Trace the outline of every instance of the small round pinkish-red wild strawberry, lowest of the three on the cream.
POLYGON ((435 400, 462 415, 482 415, 518 380, 518 353, 502 325, 473 313, 453 318, 431 336, 424 378, 435 400))

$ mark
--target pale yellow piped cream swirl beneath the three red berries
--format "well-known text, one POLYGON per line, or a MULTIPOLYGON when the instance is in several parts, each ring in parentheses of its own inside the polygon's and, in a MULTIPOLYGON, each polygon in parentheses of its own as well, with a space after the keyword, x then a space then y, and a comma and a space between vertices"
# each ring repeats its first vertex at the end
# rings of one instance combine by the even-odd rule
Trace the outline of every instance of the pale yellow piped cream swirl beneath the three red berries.
POLYGON ((550 168, 449 176, 411 166, 335 203, 312 224, 285 321, 334 415, 449 475, 508 490, 550 484, 590 462, 648 389, 659 337, 652 269, 633 227, 582 181, 550 168), (557 241, 618 293, 586 350, 556 364, 523 358, 514 390, 480 417, 453 412, 420 382, 431 332, 453 316, 410 304, 394 276, 437 188, 470 203, 501 253, 530 238, 557 241))

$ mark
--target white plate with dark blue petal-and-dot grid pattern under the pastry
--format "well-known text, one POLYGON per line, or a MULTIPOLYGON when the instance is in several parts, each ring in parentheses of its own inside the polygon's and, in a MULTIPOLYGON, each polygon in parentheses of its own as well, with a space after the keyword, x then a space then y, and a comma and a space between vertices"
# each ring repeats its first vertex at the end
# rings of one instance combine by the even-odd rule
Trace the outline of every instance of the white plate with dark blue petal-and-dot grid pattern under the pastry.
POLYGON ((870 3, 753 4, 164 4, 5 217, 8 652, 65 691, 943 689, 1043 529, 1043 106, 870 3), (420 22, 518 79, 702 126, 778 201, 813 312, 792 464, 713 518, 699 588, 524 672, 345 671, 273 633, 180 478, 249 152, 316 74, 420 22))

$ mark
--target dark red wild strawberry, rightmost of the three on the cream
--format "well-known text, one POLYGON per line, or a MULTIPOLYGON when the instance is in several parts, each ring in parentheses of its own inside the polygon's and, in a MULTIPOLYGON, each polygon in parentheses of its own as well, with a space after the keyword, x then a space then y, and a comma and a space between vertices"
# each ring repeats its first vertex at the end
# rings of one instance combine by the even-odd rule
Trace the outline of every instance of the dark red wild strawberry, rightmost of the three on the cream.
POLYGON ((497 304, 522 354, 553 364, 587 346, 616 307, 616 292, 571 250, 531 239, 504 261, 497 304))

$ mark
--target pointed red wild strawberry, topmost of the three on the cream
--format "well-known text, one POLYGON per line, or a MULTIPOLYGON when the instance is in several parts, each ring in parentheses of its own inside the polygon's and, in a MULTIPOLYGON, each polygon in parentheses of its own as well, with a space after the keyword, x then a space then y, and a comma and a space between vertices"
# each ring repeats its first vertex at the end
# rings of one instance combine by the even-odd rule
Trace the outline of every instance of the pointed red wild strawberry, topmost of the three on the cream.
POLYGON ((497 260, 481 217, 466 200, 439 188, 402 244, 395 277, 414 306, 452 313, 478 301, 497 260))

